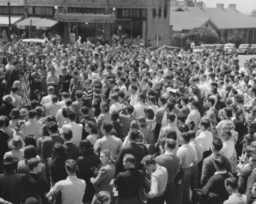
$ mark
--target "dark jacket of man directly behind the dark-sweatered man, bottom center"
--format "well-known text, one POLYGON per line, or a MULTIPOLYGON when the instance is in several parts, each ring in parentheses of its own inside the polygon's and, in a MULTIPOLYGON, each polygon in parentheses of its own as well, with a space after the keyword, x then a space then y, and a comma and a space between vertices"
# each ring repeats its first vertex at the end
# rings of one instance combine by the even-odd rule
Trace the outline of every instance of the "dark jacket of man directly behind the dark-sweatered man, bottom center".
POLYGON ((141 160, 145 156, 145 150, 140 145, 137 145, 135 142, 129 143, 127 146, 121 147, 118 155, 116 157, 116 175, 120 172, 125 172, 123 159, 124 155, 131 154, 137 160, 137 166, 139 169, 142 169, 141 160))

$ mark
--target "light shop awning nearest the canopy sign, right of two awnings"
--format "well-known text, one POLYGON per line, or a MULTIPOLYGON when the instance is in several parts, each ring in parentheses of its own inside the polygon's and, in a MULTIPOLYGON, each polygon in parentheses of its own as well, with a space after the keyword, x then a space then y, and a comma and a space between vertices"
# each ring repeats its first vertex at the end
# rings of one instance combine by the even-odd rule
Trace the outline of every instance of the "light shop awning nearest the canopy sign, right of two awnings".
POLYGON ((31 17, 31 18, 24 19, 16 23, 15 25, 17 25, 17 28, 24 28, 26 27, 26 25, 31 24, 32 26, 35 26, 37 29, 46 30, 47 28, 53 27, 53 25, 55 25, 56 23, 58 23, 58 21, 45 19, 45 18, 31 17))

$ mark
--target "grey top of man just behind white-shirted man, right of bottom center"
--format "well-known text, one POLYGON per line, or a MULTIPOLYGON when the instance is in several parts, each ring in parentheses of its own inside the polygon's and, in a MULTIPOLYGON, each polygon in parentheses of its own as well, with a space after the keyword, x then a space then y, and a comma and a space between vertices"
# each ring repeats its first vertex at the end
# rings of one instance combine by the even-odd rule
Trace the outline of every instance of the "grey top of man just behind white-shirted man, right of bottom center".
POLYGON ((168 173, 167 183, 174 182, 177 170, 180 165, 179 157, 175 155, 160 155, 156 157, 156 163, 167 169, 167 173, 168 173))

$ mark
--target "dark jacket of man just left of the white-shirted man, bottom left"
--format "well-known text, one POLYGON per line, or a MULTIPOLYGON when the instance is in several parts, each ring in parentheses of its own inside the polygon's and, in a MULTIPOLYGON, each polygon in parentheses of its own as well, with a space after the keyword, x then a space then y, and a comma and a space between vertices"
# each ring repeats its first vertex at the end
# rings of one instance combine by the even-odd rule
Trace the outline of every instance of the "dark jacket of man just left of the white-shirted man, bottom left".
POLYGON ((41 197, 42 203, 46 201, 44 192, 49 190, 46 180, 41 179, 38 174, 30 173, 29 175, 23 176, 21 182, 23 195, 30 192, 37 193, 41 197))

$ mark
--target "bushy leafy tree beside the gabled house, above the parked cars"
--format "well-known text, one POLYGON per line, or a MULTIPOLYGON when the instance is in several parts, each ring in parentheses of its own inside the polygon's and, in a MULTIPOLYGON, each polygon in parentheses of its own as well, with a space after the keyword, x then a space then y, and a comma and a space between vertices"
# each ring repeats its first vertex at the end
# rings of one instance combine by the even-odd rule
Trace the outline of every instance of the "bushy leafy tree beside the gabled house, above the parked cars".
POLYGON ((210 28, 199 27, 189 31, 190 34, 200 34, 200 38, 206 39, 207 43, 214 44, 218 43, 219 36, 217 32, 212 31, 210 28))

